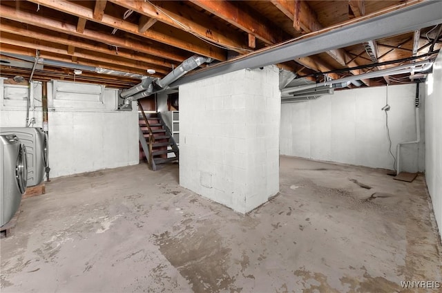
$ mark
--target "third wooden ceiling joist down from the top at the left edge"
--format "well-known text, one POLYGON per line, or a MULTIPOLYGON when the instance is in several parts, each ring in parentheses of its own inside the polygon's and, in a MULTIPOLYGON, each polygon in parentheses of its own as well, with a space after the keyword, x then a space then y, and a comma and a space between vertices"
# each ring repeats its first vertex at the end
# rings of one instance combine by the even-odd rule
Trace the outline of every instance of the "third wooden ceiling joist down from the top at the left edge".
MULTIPOLYGON (((97 53, 95 51, 90 50, 77 50, 73 51, 73 53, 69 53, 69 47, 68 46, 68 53, 66 54, 66 49, 64 48, 64 45, 61 44, 55 44, 50 41, 44 41, 41 39, 34 39, 31 37, 23 37, 19 35, 10 34, 8 32, 2 32, 1 33, 1 42, 2 44, 9 44, 12 46, 19 46, 23 48, 32 48, 35 50, 45 51, 48 53, 55 53, 58 55, 71 55, 71 59, 73 59, 73 62, 77 62, 77 58, 81 59, 88 59, 93 60, 96 62, 105 62, 105 63, 111 63, 118 66, 125 66, 127 67, 127 71, 131 71, 131 68, 136 69, 143 69, 146 70, 148 68, 153 68, 157 73, 167 74, 170 72, 167 68, 162 68, 160 66, 155 66, 154 64, 148 64, 145 62, 140 62, 136 59, 126 59, 124 57, 115 57, 115 56, 107 56, 100 53, 97 53)), ((73 47, 75 48, 75 47, 73 47)))

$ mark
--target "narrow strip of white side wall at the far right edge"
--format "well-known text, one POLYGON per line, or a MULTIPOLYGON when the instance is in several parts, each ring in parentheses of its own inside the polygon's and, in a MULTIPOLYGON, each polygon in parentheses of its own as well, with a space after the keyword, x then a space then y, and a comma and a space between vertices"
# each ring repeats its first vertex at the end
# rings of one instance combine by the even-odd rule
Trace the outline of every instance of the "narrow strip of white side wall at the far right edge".
POLYGON ((442 54, 428 75, 425 99, 425 180, 442 234, 442 54))

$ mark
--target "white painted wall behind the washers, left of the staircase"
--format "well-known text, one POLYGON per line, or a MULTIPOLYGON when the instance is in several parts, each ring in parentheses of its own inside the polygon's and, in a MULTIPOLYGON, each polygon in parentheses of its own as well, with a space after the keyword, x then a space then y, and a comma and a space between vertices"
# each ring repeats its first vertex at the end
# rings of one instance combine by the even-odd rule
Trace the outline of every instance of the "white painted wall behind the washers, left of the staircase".
MULTIPOLYGON (((85 97, 81 93, 67 93, 76 88, 81 92, 87 88, 84 84, 63 86, 66 92, 59 92, 57 100, 53 95, 57 92, 48 83, 50 177, 138 164, 136 103, 133 111, 115 111, 116 89, 103 88, 101 97, 91 102, 81 100, 85 97)), ((33 87, 35 99, 32 97, 30 117, 35 117, 35 127, 42 127, 41 84, 33 87)), ((0 125, 25 126, 26 100, 5 99, 3 84, 0 90, 0 125)))

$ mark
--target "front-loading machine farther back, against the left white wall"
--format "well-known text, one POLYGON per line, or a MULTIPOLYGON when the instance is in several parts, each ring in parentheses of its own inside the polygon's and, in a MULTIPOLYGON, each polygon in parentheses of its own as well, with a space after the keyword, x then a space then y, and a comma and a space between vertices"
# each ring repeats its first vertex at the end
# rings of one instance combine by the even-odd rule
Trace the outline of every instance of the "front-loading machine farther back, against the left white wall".
POLYGON ((39 127, 0 127, 0 134, 17 135, 28 154, 28 187, 43 182, 48 167, 48 140, 39 127))

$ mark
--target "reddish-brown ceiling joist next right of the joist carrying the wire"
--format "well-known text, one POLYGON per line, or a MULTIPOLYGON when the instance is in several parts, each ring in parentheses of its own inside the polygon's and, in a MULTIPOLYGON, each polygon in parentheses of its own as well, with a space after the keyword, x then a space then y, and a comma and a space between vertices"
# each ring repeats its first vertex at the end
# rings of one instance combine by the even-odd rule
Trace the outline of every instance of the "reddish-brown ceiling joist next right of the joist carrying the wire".
POLYGON ((287 39, 280 28, 274 26, 264 17, 256 15, 253 10, 245 6, 240 8, 235 1, 191 0, 191 2, 244 30, 244 32, 254 35, 266 44, 276 44, 287 39))

